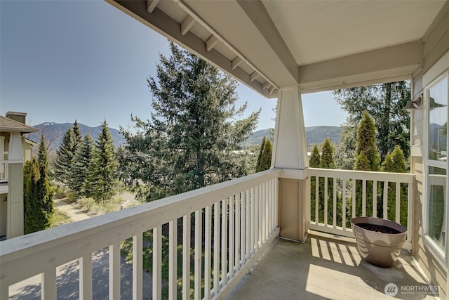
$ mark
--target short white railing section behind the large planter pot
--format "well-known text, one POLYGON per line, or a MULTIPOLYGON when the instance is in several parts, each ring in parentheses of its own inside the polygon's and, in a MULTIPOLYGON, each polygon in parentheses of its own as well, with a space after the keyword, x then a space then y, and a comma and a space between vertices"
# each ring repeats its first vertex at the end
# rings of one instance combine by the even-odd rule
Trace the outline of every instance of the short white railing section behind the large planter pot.
POLYGON ((411 249, 413 235, 411 207, 415 175, 314 168, 308 170, 308 175, 309 229, 354 237, 350 225, 351 218, 379 216, 406 225, 408 235, 404 247, 411 249), (391 197, 391 190, 394 197, 391 197), (404 201, 407 221, 402 218, 401 222, 401 206, 404 209, 404 201), (379 209, 378 203, 382 205, 379 209), (393 218, 388 217, 389 207, 394 207, 393 218))

